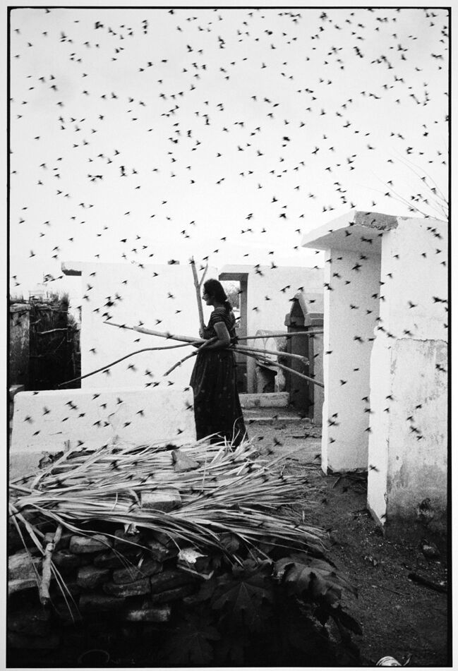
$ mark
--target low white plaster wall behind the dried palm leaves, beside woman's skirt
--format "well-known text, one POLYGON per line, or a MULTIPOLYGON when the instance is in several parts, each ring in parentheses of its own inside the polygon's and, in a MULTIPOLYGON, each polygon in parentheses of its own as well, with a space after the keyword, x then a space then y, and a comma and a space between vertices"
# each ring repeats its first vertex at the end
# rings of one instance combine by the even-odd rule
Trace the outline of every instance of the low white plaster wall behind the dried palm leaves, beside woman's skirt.
POLYGON ((68 389, 16 394, 10 477, 38 468, 45 453, 100 447, 119 437, 148 445, 195 440, 193 392, 173 389, 68 389))

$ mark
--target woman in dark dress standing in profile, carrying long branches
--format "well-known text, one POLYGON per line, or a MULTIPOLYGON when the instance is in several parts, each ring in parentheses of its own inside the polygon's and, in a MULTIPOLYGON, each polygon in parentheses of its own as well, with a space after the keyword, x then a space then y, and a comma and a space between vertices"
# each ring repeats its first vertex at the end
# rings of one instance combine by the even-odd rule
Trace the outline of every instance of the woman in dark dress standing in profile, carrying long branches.
POLYGON ((207 279, 203 289, 203 300, 215 309, 199 335, 205 340, 215 338, 215 341, 198 353, 191 375, 195 433, 198 440, 214 433, 210 442, 226 439, 232 445, 239 445, 246 437, 246 428, 237 391, 234 352, 227 349, 231 341, 236 341, 236 320, 217 279, 207 279))

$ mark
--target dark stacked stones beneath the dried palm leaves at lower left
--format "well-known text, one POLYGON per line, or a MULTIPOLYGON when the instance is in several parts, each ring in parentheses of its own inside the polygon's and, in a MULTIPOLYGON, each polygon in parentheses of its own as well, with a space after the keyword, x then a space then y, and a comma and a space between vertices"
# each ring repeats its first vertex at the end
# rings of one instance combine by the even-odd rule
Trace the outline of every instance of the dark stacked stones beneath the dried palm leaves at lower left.
POLYGON ((177 567, 177 555, 176 546, 161 533, 64 535, 53 562, 71 598, 66 592, 64 599, 54 579, 52 608, 47 610, 37 597, 41 555, 32 548, 16 552, 8 559, 9 644, 56 648, 62 627, 97 614, 124 624, 169 622, 173 607, 195 592, 199 582, 198 576, 177 567))

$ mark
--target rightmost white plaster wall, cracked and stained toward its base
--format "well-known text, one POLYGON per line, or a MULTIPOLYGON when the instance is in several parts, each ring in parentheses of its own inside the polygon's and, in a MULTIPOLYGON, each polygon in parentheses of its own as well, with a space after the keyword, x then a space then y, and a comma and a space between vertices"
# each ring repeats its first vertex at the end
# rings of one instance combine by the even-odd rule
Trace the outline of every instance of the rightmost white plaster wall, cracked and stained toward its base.
POLYGON ((438 521, 445 510, 446 243, 445 224, 433 219, 399 218, 382 238, 368 457, 378 467, 369 473, 368 504, 382 522, 415 517, 426 497, 438 521))

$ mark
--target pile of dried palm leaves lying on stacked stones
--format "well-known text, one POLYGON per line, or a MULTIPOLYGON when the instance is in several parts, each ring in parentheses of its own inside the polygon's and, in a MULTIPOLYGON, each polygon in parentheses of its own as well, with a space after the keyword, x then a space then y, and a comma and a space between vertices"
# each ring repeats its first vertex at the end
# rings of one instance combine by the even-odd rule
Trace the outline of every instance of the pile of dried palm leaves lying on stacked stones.
POLYGON ((298 521, 290 508, 310 496, 305 472, 285 475, 278 460, 260 459, 248 440, 238 447, 205 441, 181 446, 180 454, 194 465, 177 471, 174 447, 115 443, 70 450, 47 469, 11 482, 13 521, 41 551, 37 520, 85 534, 95 533, 91 526, 114 523, 220 551, 221 537, 231 533, 247 545, 272 543, 320 555, 325 532, 298 521), (171 490, 179 492, 180 507, 142 507, 145 492, 171 490))

